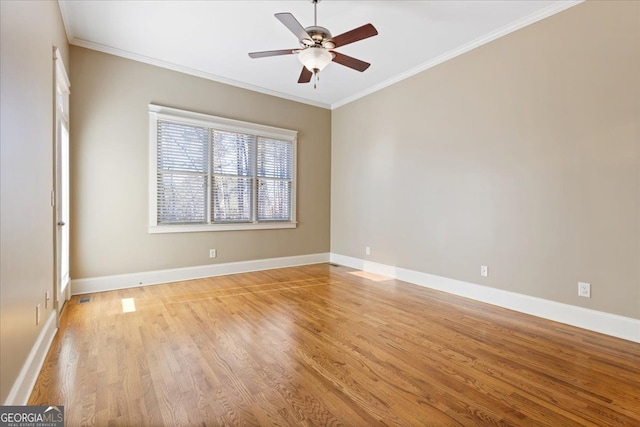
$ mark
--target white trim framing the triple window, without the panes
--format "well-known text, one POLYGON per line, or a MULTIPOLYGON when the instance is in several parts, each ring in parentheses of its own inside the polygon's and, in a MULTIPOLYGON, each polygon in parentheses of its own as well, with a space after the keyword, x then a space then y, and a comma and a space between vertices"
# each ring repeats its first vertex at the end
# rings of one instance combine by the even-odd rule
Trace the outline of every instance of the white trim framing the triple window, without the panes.
POLYGON ((297 137, 298 132, 256 123, 194 113, 177 108, 149 104, 149 233, 190 233, 202 231, 273 230, 296 228, 296 181, 297 181, 297 137), (293 181, 291 183, 291 221, 252 222, 227 224, 158 225, 157 161, 158 120, 180 122, 193 126, 213 127, 217 130, 253 134, 266 138, 291 141, 293 143, 293 181))

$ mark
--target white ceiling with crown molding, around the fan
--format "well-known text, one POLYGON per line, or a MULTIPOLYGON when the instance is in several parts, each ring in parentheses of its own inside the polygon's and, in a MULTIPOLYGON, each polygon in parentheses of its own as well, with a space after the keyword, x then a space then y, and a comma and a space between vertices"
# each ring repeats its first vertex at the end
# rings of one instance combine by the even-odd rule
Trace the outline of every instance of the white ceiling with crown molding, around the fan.
POLYGON ((69 42, 325 108, 335 108, 571 7, 579 1, 339 1, 318 4, 318 25, 336 36, 366 23, 378 35, 336 49, 370 62, 364 73, 331 63, 318 88, 298 84, 297 48, 273 15, 313 25, 313 4, 296 1, 59 0, 69 42))

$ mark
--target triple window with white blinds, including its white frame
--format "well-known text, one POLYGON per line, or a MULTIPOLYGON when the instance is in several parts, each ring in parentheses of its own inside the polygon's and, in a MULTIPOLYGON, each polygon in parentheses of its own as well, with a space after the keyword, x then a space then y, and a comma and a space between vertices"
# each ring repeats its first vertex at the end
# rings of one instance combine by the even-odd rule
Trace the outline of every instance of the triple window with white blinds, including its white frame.
POLYGON ((297 132, 149 106, 149 231, 293 228, 297 132))

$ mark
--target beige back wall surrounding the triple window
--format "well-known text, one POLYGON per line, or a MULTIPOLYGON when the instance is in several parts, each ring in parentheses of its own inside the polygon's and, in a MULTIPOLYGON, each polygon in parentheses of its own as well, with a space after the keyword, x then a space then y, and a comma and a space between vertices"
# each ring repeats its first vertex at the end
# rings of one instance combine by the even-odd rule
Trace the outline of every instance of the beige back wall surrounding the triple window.
POLYGON ((70 74, 72 279, 329 251, 331 111, 75 46, 70 74), (298 227, 149 234, 149 103, 297 130, 298 227))

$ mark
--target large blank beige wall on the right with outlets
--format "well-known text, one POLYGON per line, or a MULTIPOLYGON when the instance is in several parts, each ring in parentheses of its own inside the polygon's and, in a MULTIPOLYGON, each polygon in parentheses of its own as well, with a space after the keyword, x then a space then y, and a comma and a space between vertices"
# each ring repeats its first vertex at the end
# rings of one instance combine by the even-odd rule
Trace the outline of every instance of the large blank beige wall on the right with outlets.
POLYGON ((334 253, 640 318, 640 3, 580 4, 335 110, 331 192, 334 253))

